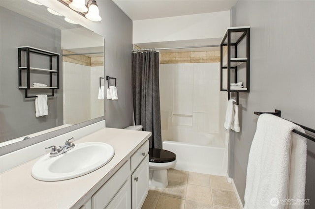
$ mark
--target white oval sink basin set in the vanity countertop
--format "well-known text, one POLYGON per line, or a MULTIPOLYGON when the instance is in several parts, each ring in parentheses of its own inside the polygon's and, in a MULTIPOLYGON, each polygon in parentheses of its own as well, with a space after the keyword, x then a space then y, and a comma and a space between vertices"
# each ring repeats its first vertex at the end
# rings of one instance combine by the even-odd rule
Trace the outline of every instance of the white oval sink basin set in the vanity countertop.
POLYGON ((41 157, 32 167, 32 177, 40 181, 60 181, 91 173, 108 163, 114 148, 102 142, 76 144, 57 157, 41 157))

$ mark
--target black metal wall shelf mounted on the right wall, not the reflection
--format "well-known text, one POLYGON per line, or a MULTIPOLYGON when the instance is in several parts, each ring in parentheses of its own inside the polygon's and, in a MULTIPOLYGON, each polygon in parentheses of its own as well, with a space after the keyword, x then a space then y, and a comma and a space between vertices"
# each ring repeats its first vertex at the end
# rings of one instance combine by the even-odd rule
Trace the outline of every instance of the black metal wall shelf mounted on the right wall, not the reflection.
POLYGON ((237 104, 239 101, 239 92, 250 92, 250 26, 243 27, 229 27, 227 28, 224 37, 221 41, 221 82, 220 90, 228 92, 228 99, 230 99, 230 93, 236 93, 237 104), (245 48, 242 54, 245 57, 238 57, 238 47, 241 43, 245 48), (245 46, 244 46, 245 45, 245 46), (223 54, 223 48, 226 48, 226 54, 223 54), (225 56, 224 56, 225 55, 225 56), (246 78, 243 80, 242 88, 231 88, 231 83, 237 83, 238 80, 238 66, 242 66, 246 69, 246 78), (226 71, 227 80, 226 88, 223 88, 223 71, 226 71), (233 72, 232 72, 233 71, 233 72), (233 81, 232 81, 233 80, 233 81), (245 82, 244 82, 245 81, 245 82))

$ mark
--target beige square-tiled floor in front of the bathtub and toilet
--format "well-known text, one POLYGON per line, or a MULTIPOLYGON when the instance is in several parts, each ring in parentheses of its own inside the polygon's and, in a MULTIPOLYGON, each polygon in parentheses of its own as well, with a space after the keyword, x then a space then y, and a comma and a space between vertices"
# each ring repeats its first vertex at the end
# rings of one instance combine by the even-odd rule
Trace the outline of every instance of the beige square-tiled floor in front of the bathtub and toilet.
POLYGON ((142 209, 239 209, 225 177, 168 170, 168 186, 149 189, 142 209))

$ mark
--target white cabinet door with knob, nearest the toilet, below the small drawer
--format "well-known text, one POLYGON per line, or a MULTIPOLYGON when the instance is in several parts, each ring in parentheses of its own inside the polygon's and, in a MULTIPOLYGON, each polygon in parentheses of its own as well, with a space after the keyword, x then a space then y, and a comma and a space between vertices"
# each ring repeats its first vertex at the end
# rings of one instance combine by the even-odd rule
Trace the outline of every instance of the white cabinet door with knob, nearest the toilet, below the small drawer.
POLYGON ((132 209, 141 209, 149 191, 149 155, 132 174, 131 183, 132 209))

